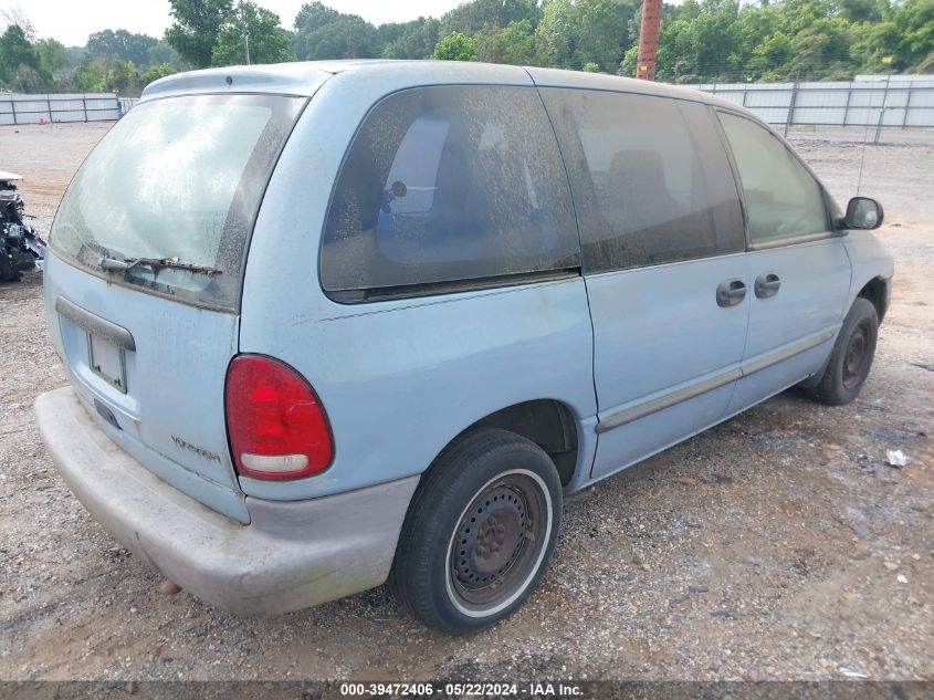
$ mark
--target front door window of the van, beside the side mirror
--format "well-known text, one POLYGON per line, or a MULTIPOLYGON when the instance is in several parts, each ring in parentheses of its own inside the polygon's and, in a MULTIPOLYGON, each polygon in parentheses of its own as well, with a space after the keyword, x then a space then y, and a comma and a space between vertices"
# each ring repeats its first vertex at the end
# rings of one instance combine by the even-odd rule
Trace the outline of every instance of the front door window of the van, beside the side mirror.
POLYGON ((785 144, 752 119, 721 112, 720 121, 746 195, 752 242, 826 231, 820 186, 785 144))

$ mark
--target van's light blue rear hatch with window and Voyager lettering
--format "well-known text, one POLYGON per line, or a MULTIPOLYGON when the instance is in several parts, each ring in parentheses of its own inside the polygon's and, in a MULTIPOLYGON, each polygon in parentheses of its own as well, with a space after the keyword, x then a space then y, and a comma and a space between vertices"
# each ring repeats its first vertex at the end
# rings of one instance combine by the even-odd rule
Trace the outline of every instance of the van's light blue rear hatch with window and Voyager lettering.
POLYGON ((151 471, 242 522, 223 385, 253 222, 305 102, 141 102, 82 165, 51 231, 49 325, 88 412, 151 471))

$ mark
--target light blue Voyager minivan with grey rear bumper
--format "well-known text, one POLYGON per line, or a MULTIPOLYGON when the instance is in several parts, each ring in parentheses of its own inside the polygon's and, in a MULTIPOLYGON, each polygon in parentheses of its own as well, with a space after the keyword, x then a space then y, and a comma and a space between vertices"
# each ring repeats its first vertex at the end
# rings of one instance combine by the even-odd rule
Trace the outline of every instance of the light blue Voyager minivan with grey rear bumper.
MULTIPOLYGON (((700 92, 325 62, 150 85, 55 217, 62 477, 241 614, 387 578, 515 610, 562 498, 794 385, 860 391, 893 274, 786 142, 700 92)), ((860 230, 863 229, 863 230, 860 230)))

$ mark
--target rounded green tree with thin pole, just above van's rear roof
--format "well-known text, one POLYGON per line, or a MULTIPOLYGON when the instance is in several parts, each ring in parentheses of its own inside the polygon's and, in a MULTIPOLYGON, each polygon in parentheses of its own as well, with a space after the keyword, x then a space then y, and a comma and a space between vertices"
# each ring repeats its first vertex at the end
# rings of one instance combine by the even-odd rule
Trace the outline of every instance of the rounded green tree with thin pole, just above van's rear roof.
POLYGON ((294 61, 292 42, 279 29, 279 15, 250 0, 238 3, 224 20, 218 32, 211 61, 214 65, 237 65, 246 63, 281 63, 294 61), (246 42, 243 30, 246 29, 246 42))

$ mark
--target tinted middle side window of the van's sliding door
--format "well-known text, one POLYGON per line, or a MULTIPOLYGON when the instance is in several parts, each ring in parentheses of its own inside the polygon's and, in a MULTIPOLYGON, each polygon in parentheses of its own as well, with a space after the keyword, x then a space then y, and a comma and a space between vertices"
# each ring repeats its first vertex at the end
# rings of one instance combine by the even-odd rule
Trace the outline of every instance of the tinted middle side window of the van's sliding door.
POLYGON ((736 185, 704 105, 590 90, 542 94, 567 164, 587 271, 745 248, 736 185))

